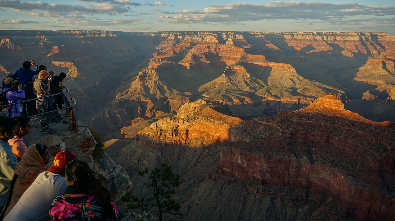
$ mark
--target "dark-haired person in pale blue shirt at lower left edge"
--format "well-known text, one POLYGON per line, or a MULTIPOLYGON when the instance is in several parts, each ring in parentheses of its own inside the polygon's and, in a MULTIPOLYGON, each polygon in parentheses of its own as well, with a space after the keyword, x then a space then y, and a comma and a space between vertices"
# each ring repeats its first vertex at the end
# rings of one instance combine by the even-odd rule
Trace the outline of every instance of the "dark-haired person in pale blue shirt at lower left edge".
POLYGON ((17 157, 7 143, 13 138, 16 125, 17 122, 13 118, 0 116, 0 212, 7 202, 15 166, 18 164, 17 157))

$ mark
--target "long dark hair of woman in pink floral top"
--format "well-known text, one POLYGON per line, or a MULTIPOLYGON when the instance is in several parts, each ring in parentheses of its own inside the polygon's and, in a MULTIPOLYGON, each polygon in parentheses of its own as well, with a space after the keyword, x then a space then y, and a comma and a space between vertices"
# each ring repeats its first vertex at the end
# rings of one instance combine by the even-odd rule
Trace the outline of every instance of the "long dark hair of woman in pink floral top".
POLYGON ((98 201, 113 198, 113 194, 96 179, 86 162, 81 160, 70 161, 66 166, 65 173, 69 181, 74 180, 76 188, 89 195, 94 195, 98 201))

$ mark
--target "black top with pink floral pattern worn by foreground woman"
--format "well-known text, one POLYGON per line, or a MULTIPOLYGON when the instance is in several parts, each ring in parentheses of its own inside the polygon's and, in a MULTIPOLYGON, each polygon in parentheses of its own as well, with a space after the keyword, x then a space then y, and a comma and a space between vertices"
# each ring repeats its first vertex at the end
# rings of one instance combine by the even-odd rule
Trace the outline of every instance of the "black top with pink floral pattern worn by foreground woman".
POLYGON ((113 201, 97 201, 94 195, 71 197, 64 193, 55 198, 49 211, 49 221, 120 221, 113 201))

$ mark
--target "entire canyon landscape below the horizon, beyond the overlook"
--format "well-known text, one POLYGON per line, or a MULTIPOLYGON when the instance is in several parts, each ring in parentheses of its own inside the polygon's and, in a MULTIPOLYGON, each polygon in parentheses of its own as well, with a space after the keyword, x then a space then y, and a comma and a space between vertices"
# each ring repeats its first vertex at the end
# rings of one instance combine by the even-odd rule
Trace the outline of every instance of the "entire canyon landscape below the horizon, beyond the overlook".
POLYGON ((395 37, 0 30, 0 75, 67 74, 132 193, 162 162, 183 220, 393 220, 395 37))

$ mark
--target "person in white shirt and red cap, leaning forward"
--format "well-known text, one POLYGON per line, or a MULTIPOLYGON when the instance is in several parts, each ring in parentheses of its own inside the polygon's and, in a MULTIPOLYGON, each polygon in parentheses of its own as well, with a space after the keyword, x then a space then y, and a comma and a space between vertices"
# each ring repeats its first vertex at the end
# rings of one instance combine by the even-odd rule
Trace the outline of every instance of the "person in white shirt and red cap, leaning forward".
POLYGON ((57 153, 51 168, 38 175, 3 220, 47 221, 53 199, 62 195, 68 186, 64 179, 66 166, 76 158, 70 151, 57 153))

